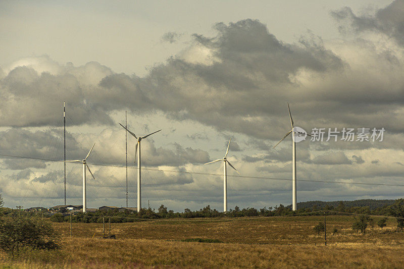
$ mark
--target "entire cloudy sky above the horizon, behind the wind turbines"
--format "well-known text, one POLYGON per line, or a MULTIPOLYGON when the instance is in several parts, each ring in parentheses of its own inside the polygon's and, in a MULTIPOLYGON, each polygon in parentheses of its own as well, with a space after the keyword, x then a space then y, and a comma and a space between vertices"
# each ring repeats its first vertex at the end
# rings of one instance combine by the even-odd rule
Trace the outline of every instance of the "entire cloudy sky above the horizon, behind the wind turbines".
MULTIPOLYGON (((402 197, 404 1, 0 2, 0 193, 5 206, 63 204, 67 159, 87 162, 87 204, 126 204, 125 111, 142 141, 142 205, 222 210, 297 200, 402 197), (328 130, 335 130, 327 140, 328 130), (354 141, 343 140, 352 128, 354 141), (356 141, 369 128, 370 141, 356 141), (372 141, 372 129, 384 128, 372 141), (31 158, 10 158, 4 155, 31 158), (103 165, 103 166, 100 166, 103 165), (171 171, 171 172, 170 172, 171 171), (174 171, 174 172, 172 172, 174 171), (191 173, 184 173, 191 172, 191 173), (193 173, 193 174, 192 174, 193 173), (261 177, 252 179, 250 177, 261 177), (271 180, 279 178, 286 180, 271 180)), ((366 135, 365 135, 366 136, 366 135)), ((128 137, 129 206, 136 206, 128 137)), ((81 204, 82 167, 67 164, 67 202, 81 204)))

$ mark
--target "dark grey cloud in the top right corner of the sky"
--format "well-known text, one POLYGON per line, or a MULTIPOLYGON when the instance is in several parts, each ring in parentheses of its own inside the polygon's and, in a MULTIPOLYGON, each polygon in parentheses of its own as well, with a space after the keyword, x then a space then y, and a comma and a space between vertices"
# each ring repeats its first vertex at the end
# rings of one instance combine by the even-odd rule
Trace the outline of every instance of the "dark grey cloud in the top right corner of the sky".
POLYGON ((379 9, 373 15, 357 16, 349 7, 331 12, 331 15, 348 26, 341 25, 341 31, 382 32, 404 44, 404 1, 395 0, 385 8, 379 9))

